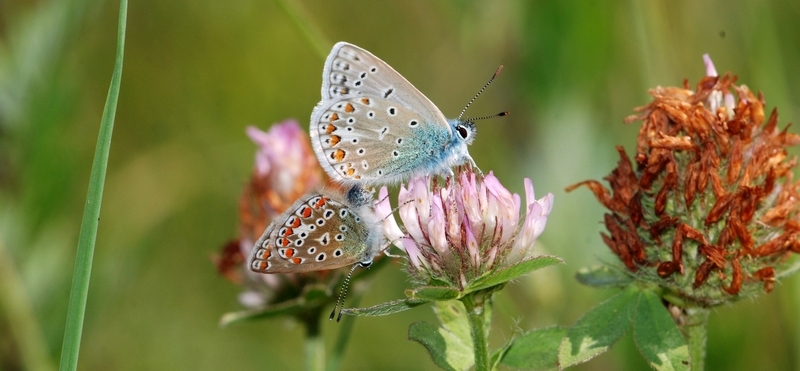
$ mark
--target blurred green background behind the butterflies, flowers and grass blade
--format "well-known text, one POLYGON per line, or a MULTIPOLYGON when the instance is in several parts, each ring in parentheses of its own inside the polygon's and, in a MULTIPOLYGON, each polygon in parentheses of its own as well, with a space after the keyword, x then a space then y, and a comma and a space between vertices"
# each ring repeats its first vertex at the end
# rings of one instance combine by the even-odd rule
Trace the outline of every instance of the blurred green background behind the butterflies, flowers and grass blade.
MULTIPOLYGON (((57 364, 117 15, 113 1, 0 0, 0 370, 57 364)), ((236 235, 255 150, 245 126, 306 126, 320 99, 324 55, 296 20, 324 53, 339 40, 370 50, 450 117, 505 66, 470 115, 512 114, 479 123, 470 151, 512 191, 530 177, 539 196, 555 194, 538 248, 567 265, 497 296, 493 346, 572 325, 612 294, 573 278, 614 258, 598 235, 603 209, 585 189, 563 189, 610 172, 614 145, 631 153, 637 127, 622 119, 648 88, 694 85, 710 53, 779 107, 781 127, 800 119, 796 0, 131 2, 80 369, 302 368, 291 321, 218 327, 240 309, 239 289, 210 260, 236 235)), ((407 287, 390 265, 361 304, 407 287)), ((708 369, 800 369, 799 312, 796 278, 716 309, 708 369)), ((435 321, 430 308, 358 319, 342 369, 436 369, 406 339, 420 320, 435 321)), ((324 324, 329 344, 338 327, 324 324)), ((647 366, 628 335, 575 369, 647 366)))

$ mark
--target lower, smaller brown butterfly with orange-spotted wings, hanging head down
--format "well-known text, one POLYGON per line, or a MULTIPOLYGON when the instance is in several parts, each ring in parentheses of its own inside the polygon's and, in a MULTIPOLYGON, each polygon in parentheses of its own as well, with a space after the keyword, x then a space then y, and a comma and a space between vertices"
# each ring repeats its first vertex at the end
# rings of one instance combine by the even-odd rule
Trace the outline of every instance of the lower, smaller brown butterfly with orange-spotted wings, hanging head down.
POLYGON ((259 273, 297 273, 360 264, 381 252, 384 237, 366 200, 323 190, 300 197, 267 227, 248 266, 259 273))

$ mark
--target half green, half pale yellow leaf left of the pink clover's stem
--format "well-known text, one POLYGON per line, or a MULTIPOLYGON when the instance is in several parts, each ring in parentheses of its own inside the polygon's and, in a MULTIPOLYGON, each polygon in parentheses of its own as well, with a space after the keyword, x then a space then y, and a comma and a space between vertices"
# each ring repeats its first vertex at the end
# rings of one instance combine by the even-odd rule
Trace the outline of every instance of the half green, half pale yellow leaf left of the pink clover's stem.
POLYGON ((408 339, 420 343, 428 350, 433 363, 445 370, 466 370, 474 363, 470 345, 452 332, 426 322, 412 323, 408 328, 408 339))

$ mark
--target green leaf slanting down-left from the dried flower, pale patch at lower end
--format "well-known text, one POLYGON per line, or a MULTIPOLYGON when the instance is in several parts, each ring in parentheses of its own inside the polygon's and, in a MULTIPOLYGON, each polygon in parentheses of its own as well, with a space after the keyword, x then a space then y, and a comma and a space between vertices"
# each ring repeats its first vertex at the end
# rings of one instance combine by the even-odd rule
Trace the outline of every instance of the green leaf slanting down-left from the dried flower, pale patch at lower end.
POLYGON ((630 327, 640 292, 631 286, 584 314, 561 341, 561 367, 586 362, 616 343, 630 327))

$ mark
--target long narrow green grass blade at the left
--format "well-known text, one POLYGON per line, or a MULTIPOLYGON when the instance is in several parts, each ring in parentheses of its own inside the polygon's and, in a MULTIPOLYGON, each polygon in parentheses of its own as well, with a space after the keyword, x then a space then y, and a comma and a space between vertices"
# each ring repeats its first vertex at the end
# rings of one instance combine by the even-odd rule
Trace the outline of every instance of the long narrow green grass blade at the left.
POLYGON ((64 329, 64 344, 61 347, 61 364, 59 370, 75 370, 78 367, 78 351, 80 350, 83 317, 86 312, 86 297, 89 292, 89 277, 92 272, 92 256, 97 239, 97 224, 100 221, 100 202, 103 198, 103 185, 108 166, 108 151, 111 147, 111 132, 114 129, 114 115, 117 112, 119 85, 122 79, 122 56, 125 49, 125 22, 128 16, 128 0, 119 2, 119 28, 117 30, 117 54, 114 62, 114 74, 111 76, 111 87, 108 89, 103 118, 100 121, 100 133, 97 136, 92 172, 89 176, 89 190, 86 194, 86 205, 83 209, 83 220, 78 238, 78 253, 75 257, 75 271, 72 276, 72 287, 69 294, 67 323, 64 329))

